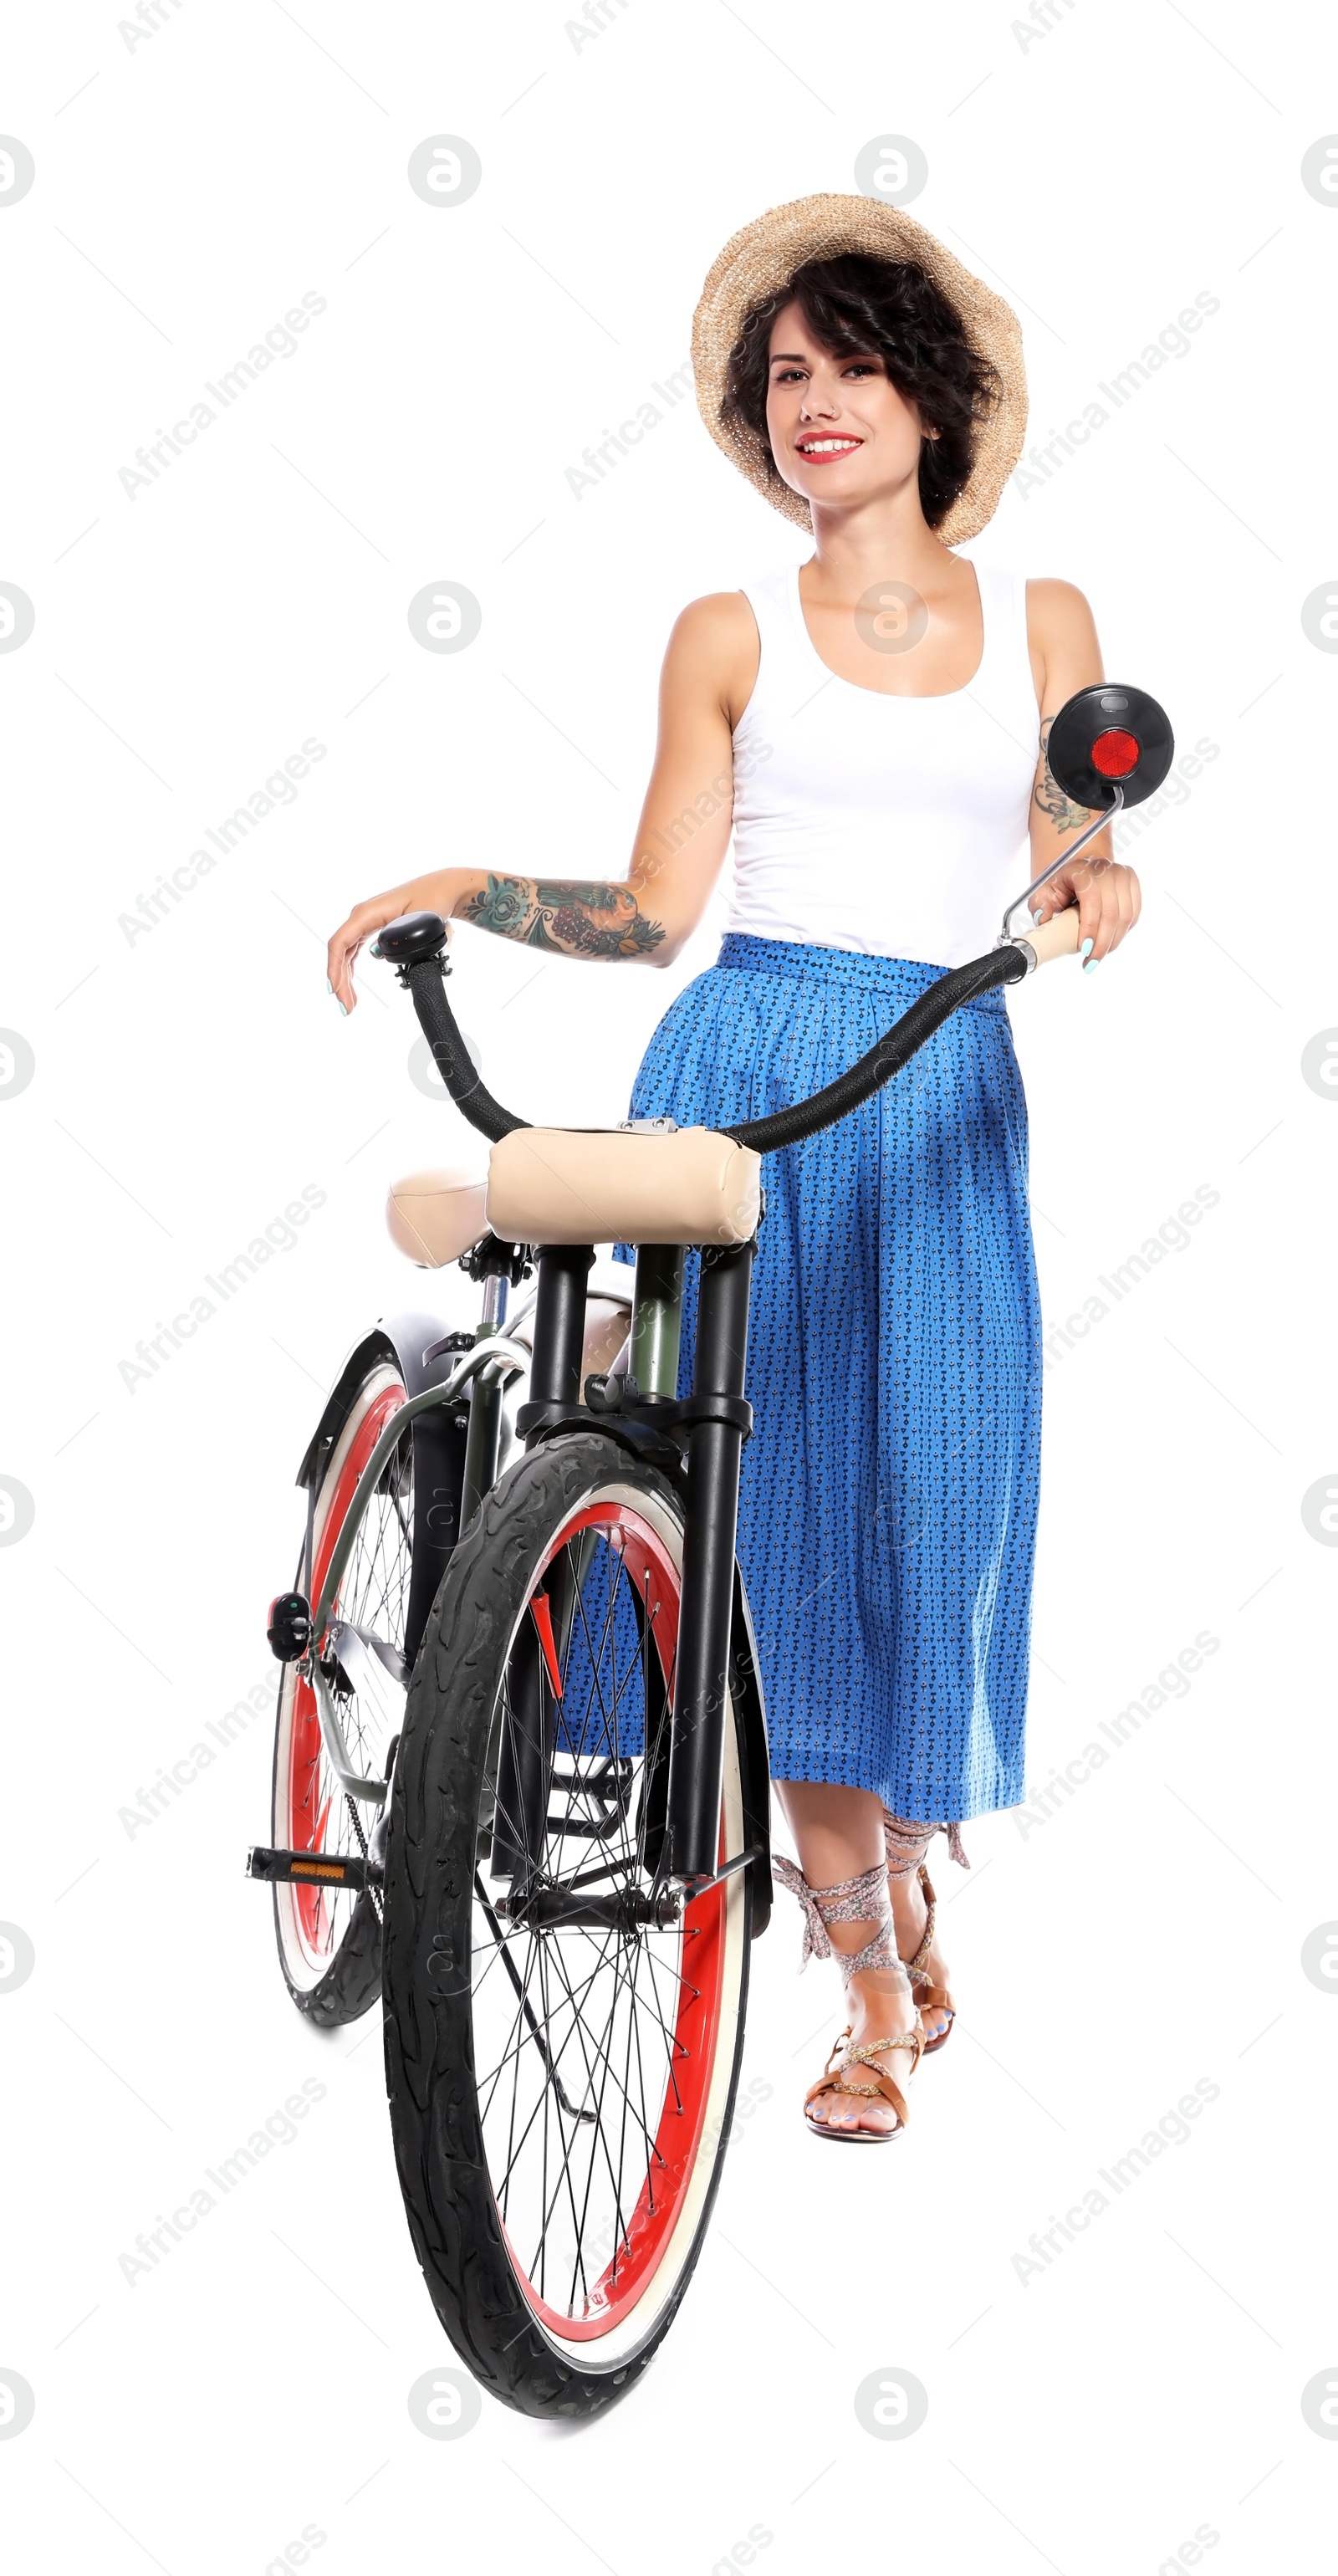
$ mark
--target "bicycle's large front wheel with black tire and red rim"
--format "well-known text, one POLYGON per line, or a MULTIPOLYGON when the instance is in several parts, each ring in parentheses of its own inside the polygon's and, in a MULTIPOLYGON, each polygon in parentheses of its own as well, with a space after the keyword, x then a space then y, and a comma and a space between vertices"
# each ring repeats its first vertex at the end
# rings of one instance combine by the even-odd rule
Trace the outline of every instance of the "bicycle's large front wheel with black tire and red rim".
MULTIPOLYGON (((750 1873, 645 1919, 681 1569, 673 1486, 616 1443, 580 1432, 518 1463, 451 1561, 394 1765, 405 2210, 456 2352, 536 2416, 596 2414, 650 2362, 732 2120, 750 1873), (544 1899, 590 1919, 544 1919, 544 1899)), ((742 1762, 730 1708, 722 1857, 742 1850, 742 1762)))

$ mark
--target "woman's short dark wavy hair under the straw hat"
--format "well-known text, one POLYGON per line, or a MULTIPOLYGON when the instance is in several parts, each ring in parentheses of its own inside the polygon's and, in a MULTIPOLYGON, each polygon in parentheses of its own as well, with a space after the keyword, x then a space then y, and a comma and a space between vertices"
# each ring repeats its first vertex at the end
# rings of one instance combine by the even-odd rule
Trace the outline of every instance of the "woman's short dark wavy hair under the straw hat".
POLYGON ((722 420, 732 415, 761 438, 779 489, 784 477, 771 456, 766 394, 771 325, 786 304, 799 304, 815 340, 833 358, 877 353, 897 392, 915 402, 926 430, 938 430, 938 438, 920 443, 920 510, 938 528, 969 479, 977 425, 1003 392, 998 368, 972 348, 962 317, 918 260, 879 260, 853 250, 835 260, 804 260, 786 286, 745 314, 719 404, 722 420))

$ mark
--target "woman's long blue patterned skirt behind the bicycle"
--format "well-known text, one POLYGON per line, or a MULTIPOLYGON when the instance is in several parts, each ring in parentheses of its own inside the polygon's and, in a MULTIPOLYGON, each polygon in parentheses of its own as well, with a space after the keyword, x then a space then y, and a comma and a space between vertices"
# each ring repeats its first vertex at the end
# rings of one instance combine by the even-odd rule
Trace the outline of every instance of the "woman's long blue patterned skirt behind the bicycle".
MULTIPOLYGON (((732 933, 655 1030, 632 1115, 724 1126, 802 1100, 936 981, 732 933)), ((740 1564, 773 1777, 871 1788, 897 1816, 1016 1806, 1042 1316, 1003 992, 768 1154, 763 1188, 740 1564)), ((683 1394, 696 1273, 688 1255, 683 1394)))

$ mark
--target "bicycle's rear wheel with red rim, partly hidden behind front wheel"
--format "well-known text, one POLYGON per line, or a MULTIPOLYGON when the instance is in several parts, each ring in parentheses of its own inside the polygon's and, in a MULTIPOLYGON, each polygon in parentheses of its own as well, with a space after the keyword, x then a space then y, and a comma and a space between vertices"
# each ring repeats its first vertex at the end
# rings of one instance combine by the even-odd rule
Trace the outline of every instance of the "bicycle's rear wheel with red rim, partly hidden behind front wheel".
MULTIPOLYGON (((320 1476, 312 1517, 312 1605, 345 1530, 358 1476, 405 1404, 394 1360, 353 1391, 320 1476)), ((412 1432, 387 1458, 348 1558, 322 1656, 343 1739, 361 1777, 384 1780, 405 1713, 405 1618, 412 1574, 412 1432)), ((273 1731, 273 1842, 289 1852, 366 1855, 379 1811, 351 1798, 325 1752, 312 1682, 284 1664, 273 1731)), ((356 2022, 382 1991, 382 1904, 371 1891, 273 1888, 278 1963, 299 2012, 356 2022)))

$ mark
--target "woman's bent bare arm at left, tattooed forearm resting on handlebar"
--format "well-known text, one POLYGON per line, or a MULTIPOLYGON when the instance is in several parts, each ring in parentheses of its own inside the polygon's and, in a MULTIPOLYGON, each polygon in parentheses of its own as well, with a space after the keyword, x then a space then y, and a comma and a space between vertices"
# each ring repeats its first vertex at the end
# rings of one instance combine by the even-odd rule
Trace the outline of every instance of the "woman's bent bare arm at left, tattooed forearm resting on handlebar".
POLYGON ((327 953, 330 989, 356 1007, 353 958, 400 912, 441 912, 523 948, 668 966, 696 930, 730 845, 732 726, 758 670, 742 592, 693 600, 660 675, 660 739, 624 878, 510 876, 436 868, 356 904, 327 953))

